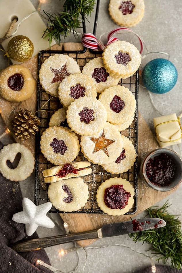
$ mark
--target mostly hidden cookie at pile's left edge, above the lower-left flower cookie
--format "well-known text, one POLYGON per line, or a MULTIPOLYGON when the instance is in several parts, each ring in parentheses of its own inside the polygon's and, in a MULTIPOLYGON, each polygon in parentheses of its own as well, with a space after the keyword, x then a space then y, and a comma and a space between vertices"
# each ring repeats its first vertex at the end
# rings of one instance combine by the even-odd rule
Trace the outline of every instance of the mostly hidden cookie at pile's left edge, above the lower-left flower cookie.
POLYGON ((67 120, 66 120, 66 109, 61 108, 55 111, 55 113, 51 116, 49 120, 49 126, 63 126, 69 128, 67 120))

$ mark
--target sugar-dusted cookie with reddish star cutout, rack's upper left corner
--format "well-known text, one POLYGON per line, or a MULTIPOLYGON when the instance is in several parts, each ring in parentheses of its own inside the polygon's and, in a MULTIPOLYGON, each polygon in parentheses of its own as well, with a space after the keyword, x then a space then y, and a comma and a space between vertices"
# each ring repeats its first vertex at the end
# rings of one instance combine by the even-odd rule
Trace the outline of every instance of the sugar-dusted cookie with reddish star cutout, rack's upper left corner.
POLYGON ((60 82, 66 76, 76 73, 81 73, 81 71, 77 62, 72 57, 55 54, 43 62, 39 71, 39 80, 46 93, 58 97, 60 82))

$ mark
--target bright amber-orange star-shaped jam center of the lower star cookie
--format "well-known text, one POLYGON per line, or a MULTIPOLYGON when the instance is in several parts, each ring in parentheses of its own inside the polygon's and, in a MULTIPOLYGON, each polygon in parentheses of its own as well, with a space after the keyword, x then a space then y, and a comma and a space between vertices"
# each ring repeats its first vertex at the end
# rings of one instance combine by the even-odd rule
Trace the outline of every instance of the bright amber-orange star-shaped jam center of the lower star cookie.
POLYGON ((104 130, 99 137, 91 137, 91 141, 95 143, 92 153, 102 150, 107 156, 109 156, 107 147, 115 142, 115 140, 105 138, 104 130))

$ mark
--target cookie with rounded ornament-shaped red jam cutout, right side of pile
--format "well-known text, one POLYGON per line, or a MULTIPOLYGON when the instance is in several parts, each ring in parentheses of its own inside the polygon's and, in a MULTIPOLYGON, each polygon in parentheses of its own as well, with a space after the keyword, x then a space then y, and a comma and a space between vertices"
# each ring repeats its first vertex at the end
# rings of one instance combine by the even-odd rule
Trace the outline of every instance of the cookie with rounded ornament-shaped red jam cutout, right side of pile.
POLYGON ((124 86, 112 86, 99 95, 99 101, 107 111, 107 121, 112 124, 123 124, 133 118, 136 100, 132 92, 124 86))

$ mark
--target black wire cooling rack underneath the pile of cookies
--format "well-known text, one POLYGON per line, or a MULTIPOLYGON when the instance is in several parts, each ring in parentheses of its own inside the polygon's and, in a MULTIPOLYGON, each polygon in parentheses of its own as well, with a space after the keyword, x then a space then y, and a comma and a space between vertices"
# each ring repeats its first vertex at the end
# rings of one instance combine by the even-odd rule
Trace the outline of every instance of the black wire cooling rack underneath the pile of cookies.
MULTIPOLYGON (((99 5, 97 2, 96 15, 95 15, 96 20, 98 17, 98 9, 99 9, 99 5)), ((83 25, 83 29, 85 30, 84 25, 83 25)), ((95 31, 96 31, 96 27, 94 27, 94 32, 95 31)), ((38 73, 39 73, 39 69, 41 68, 41 64, 45 61, 45 59, 47 59, 49 56, 54 54, 66 54, 66 55, 69 55, 70 57, 73 57, 74 60, 77 61, 78 65, 80 66, 82 70, 83 66, 88 61, 90 61, 94 57, 98 57, 99 54, 102 53, 101 51, 96 51, 95 53, 94 51, 91 51, 93 54, 93 57, 86 57, 87 53, 85 52, 86 52, 85 48, 79 51, 52 51, 52 50, 40 51, 38 56, 38 73)), ((42 171, 45 169, 51 168, 53 166, 53 164, 50 164, 50 162, 48 162, 47 159, 41 153, 40 139, 41 139, 42 133, 45 131, 47 127, 49 127, 48 124, 49 124, 49 119, 51 115, 54 113, 54 111, 61 108, 62 105, 60 104, 60 101, 57 98, 53 98, 49 102, 47 102, 51 98, 51 96, 42 89, 41 85, 39 84, 39 80, 37 84, 38 84, 37 85, 38 87, 37 88, 38 89, 38 98, 37 98, 38 107, 37 108, 39 110, 41 109, 41 107, 43 107, 42 109, 46 110, 46 111, 38 111, 38 114, 37 114, 38 118, 40 118, 41 120, 41 126, 40 126, 39 132, 37 132, 37 135, 36 135, 35 204, 40 205, 42 203, 49 201, 49 197, 47 196, 48 184, 44 183, 42 171)), ((120 80, 119 84, 127 87, 133 93, 137 102, 135 117, 131 126, 129 126, 129 128, 121 132, 122 135, 127 136, 132 141, 135 147, 135 151, 137 153, 138 151, 138 87, 139 87, 138 71, 132 77, 127 78, 125 80, 120 80)), ((85 158, 83 154, 80 153, 75 160, 84 161, 85 158)), ((122 177, 128 180, 135 189, 133 207, 132 209, 130 209, 129 212, 126 213, 126 214, 134 214, 137 211, 138 158, 136 158, 134 166, 129 171, 123 174, 110 174, 106 172, 101 166, 95 165, 92 163, 91 163, 91 168, 93 173, 83 177, 84 182, 89 187, 89 199, 84 207, 82 207, 80 210, 76 212, 71 212, 71 213, 102 214, 103 212, 97 206, 97 201, 96 201, 96 192, 99 185, 101 184, 101 182, 111 177, 122 177)), ((60 211, 55 209, 54 207, 52 207, 49 212, 60 213, 60 211)))

